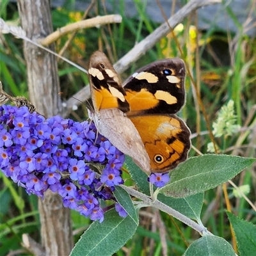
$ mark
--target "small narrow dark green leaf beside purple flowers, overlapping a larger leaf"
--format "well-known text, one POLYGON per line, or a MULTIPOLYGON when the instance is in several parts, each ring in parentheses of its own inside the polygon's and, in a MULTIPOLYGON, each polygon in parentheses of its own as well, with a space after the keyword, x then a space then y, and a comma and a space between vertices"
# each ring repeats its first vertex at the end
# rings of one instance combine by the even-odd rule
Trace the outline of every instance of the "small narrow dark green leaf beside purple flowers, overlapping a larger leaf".
POLYGON ((132 200, 129 194, 119 186, 115 187, 115 191, 113 193, 118 203, 122 205, 132 220, 139 224, 138 214, 134 208, 134 205, 132 204, 132 200))

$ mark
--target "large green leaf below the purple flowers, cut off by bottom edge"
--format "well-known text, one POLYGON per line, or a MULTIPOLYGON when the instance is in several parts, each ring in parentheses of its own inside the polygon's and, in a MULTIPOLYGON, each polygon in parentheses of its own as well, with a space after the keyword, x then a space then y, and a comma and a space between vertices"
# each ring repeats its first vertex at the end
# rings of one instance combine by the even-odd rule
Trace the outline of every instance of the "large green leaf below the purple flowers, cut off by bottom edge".
POLYGON ((129 215, 122 218, 115 209, 105 213, 104 221, 94 221, 73 248, 70 256, 110 256, 134 235, 138 222, 129 215))

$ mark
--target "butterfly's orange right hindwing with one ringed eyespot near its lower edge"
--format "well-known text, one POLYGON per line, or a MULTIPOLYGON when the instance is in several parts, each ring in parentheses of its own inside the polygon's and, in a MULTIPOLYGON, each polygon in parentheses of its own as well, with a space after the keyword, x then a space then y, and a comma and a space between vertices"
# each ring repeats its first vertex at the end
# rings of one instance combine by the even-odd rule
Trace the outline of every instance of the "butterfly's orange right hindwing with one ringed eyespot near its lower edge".
POLYGON ((165 172, 188 156, 190 131, 174 115, 129 116, 150 158, 152 172, 165 172))

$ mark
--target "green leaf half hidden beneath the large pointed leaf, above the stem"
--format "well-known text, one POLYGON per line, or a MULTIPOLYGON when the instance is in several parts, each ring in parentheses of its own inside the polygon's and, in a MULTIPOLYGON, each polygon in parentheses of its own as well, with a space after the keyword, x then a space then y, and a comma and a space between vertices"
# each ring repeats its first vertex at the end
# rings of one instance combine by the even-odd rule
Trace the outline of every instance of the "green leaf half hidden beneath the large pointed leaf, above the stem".
POLYGON ((204 202, 204 193, 187 196, 185 198, 172 198, 160 194, 157 199, 172 209, 186 215, 188 218, 200 221, 200 214, 204 202))

